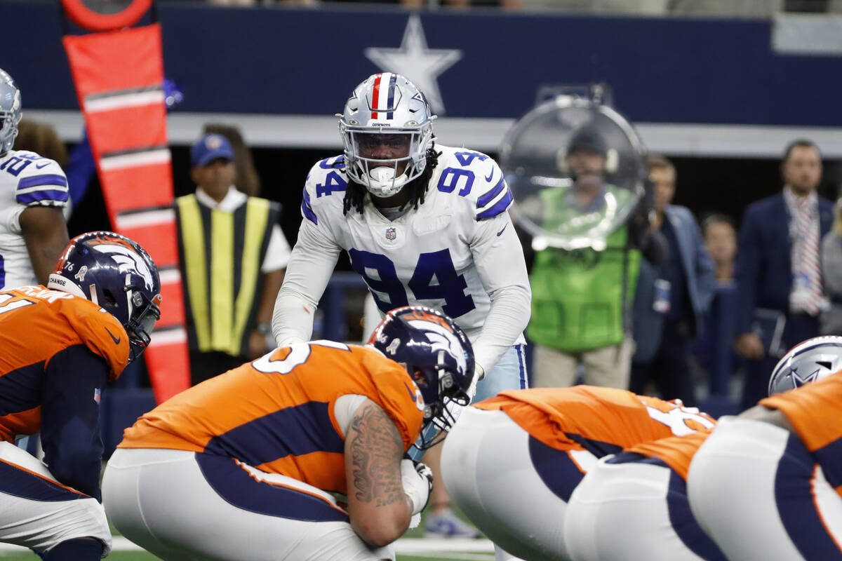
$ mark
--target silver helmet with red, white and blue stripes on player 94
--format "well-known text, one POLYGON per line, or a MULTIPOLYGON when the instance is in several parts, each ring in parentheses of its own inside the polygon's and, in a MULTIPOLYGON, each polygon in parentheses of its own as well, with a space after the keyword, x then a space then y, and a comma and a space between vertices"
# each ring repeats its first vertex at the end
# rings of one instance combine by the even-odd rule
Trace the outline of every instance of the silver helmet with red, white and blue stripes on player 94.
POLYGON ((339 118, 345 171, 376 197, 391 197, 424 172, 435 115, 418 87, 380 72, 354 88, 339 118))

